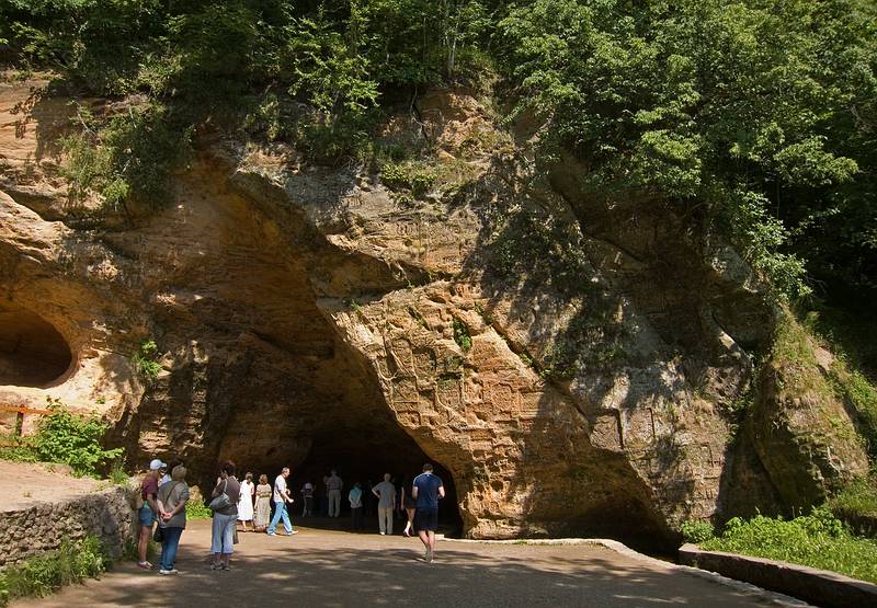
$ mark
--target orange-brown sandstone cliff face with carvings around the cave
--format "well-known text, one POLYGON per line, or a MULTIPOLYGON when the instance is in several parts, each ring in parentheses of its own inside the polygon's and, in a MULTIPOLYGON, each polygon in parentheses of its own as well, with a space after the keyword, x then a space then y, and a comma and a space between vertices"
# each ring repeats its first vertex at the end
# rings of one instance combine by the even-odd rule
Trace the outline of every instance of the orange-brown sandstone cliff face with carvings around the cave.
POLYGON ((729 448, 774 321, 745 264, 671 209, 589 199, 574 164, 524 187, 513 158, 465 153, 492 128, 472 99, 421 100, 465 164, 443 196, 216 140, 173 206, 84 229, 44 141, 65 104, 9 113, 29 85, 0 85, 0 400, 98 411, 132 463, 205 481, 220 458, 363 480, 430 458, 476 538, 668 535, 743 479, 778 501, 773 448, 729 448))

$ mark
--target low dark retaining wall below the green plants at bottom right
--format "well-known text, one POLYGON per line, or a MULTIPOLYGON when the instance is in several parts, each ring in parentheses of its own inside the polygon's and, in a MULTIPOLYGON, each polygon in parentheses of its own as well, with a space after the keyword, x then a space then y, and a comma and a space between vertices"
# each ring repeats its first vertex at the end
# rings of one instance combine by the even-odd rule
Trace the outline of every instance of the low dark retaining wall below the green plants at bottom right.
POLYGON ((683 544, 679 559, 685 565, 718 572, 827 608, 877 606, 877 585, 825 570, 737 553, 703 551, 696 544, 683 544))

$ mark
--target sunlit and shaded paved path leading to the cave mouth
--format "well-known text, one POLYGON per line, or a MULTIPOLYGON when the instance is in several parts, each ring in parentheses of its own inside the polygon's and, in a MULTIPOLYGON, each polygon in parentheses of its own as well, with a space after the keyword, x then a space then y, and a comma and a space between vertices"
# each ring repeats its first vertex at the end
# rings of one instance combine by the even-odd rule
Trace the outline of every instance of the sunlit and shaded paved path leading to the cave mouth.
MULTIPOLYGON (((14 607, 767 606, 755 594, 601 547, 440 541, 299 527, 293 537, 241 534, 230 572, 206 567, 209 521, 183 534, 178 576, 123 563, 100 581, 14 607)), ((153 560, 155 561, 155 560, 153 560)))

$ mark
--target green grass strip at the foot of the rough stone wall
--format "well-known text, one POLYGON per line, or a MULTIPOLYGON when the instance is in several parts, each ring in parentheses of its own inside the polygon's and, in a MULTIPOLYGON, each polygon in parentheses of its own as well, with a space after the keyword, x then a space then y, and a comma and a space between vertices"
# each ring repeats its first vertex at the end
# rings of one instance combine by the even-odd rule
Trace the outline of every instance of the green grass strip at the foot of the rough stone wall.
POLYGON ((45 597, 65 585, 98 578, 112 561, 100 539, 65 539, 50 551, 0 571, 0 606, 23 597, 45 597))

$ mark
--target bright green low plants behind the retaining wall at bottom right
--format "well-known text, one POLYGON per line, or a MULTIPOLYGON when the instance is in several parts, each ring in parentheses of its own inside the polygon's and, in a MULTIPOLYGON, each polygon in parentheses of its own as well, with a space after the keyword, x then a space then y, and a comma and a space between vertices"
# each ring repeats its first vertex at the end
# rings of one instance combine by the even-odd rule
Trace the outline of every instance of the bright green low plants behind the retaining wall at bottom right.
POLYGON ((701 547, 830 570, 877 583, 877 542, 855 538, 825 508, 790 521, 761 515, 749 521, 734 517, 725 525, 719 538, 701 547))

